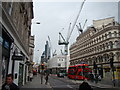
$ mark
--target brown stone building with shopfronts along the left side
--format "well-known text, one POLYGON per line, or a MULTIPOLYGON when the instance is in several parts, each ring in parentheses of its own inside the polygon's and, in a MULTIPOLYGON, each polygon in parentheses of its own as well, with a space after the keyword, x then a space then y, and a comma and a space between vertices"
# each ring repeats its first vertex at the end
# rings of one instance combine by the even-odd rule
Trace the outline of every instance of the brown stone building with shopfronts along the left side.
POLYGON ((2 47, 0 86, 9 73, 14 75, 14 82, 21 86, 27 82, 28 77, 26 62, 30 61, 29 43, 33 3, 32 0, 31 2, 3 1, 0 3, 0 11, 0 47, 2 47))

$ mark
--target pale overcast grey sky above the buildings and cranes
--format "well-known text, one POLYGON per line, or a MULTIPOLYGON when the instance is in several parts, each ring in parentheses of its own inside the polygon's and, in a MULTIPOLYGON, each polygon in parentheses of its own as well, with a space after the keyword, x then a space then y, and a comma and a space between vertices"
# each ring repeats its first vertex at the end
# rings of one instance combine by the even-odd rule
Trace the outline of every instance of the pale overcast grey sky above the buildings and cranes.
MULTIPOLYGON (((60 49, 64 50, 64 46, 58 45, 58 34, 61 32, 64 38, 67 37, 69 23, 73 25, 80 7, 81 2, 78 1, 33 1, 32 35, 35 36, 33 61, 40 62, 48 36, 50 37, 52 52, 57 50, 57 54, 60 54, 60 49), (40 24, 36 24, 36 22, 40 22, 40 24)), ((118 21, 118 2, 85 2, 76 24, 81 23, 83 27, 87 19, 85 31, 88 26, 93 24, 93 20, 109 17, 115 17, 115 20, 118 21)), ((69 39, 69 47, 76 41, 78 35, 78 30, 75 27, 69 39)))

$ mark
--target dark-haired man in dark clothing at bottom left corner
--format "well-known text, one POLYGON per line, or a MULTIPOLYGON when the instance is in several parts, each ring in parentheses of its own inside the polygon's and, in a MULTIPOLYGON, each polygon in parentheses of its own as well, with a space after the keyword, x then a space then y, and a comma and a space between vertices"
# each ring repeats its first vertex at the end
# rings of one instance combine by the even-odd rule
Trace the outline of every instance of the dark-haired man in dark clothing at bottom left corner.
POLYGON ((2 85, 1 90, 19 90, 19 87, 13 82, 13 75, 6 76, 6 82, 2 85))

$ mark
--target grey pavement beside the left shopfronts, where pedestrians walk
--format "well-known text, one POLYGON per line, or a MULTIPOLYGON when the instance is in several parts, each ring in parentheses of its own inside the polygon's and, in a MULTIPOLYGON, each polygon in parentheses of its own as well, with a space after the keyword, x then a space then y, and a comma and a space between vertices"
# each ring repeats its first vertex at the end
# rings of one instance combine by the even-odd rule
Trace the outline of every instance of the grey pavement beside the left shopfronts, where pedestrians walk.
POLYGON ((45 76, 43 76, 43 83, 41 84, 41 75, 37 74, 33 76, 33 80, 27 82, 25 85, 23 85, 21 87, 21 89, 32 89, 32 88, 44 88, 44 89, 48 89, 48 88, 52 88, 49 84, 49 82, 47 84, 45 84, 45 76))

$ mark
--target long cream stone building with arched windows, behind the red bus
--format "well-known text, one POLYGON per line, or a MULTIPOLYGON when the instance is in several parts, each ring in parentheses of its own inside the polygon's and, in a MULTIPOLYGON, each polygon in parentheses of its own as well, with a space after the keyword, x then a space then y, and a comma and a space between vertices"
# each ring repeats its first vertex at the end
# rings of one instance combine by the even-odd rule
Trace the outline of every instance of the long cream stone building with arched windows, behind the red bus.
POLYGON ((93 26, 81 33, 71 45, 70 65, 83 62, 89 64, 93 73, 96 64, 96 73, 104 80, 109 81, 115 77, 120 84, 120 24, 114 17, 94 20, 93 26), (111 58, 114 74, 110 66, 111 58))

